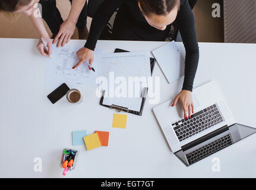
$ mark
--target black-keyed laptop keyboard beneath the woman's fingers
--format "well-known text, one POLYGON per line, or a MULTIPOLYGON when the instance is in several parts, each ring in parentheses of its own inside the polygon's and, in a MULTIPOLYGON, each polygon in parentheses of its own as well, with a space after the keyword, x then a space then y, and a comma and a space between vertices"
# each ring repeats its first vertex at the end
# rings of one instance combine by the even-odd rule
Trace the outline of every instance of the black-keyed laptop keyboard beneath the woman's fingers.
POLYGON ((191 118, 181 119, 172 124, 179 142, 192 137, 214 125, 223 122, 222 115, 216 104, 191 115, 191 118))

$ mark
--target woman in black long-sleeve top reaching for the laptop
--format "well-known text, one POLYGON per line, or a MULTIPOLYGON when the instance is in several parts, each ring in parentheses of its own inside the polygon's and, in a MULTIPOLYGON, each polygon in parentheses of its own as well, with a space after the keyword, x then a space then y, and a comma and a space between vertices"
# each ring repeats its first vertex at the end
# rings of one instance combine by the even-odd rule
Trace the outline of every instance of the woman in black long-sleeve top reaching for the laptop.
POLYGON ((105 0, 97 9, 91 23, 86 45, 78 50, 79 62, 93 63, 93 50, 97 40, 113 12, 119 8, 113 26, 115 40, 164 41, 171 24, 179 29, 186 50, 185 77, 181 93, 173 105, 181 101, 184 118, 194 113, 192 87, 197 71, 199 49, 195 32, 194 15, 187 0, 105 0))

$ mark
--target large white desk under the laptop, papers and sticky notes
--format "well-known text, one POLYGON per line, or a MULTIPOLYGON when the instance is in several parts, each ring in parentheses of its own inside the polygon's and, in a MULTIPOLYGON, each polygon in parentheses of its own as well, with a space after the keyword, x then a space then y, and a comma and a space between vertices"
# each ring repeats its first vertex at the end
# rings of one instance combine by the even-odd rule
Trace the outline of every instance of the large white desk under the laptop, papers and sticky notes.
MULTIPOLYGON (((70 105, 61 100, 52 105, 45 92, 45 59, 33 39, 0 39, 0 177, 61 178, 62 148, 80 151, 70 178, 179 178, 256 177, 256 135, 186 167, 166 144, 148 100, 143 116, 128 114, 127 129, 112 128, 113 110, 99 106, 95 89, 81 89, 84 101, 70 105), (110 131, 109 147, 86 151, 72 147, 71 132, 110 131), (43 161, 43 171, 34 172, 34 158, 43 161), (220 172, 212 172, 211 160, 220 159, 220 172)), ((83 45, 83 41, 69 43, 83 45)), ((153 50, 165 42, 99 41, 97 48, 113 52, 153 50)), ((182 43, 178 43, 182 48, 182 43)), ((184 51, 184 50, 183 50, 184 51)), ((237 122, 255 126, 256 45, 200 43, 200 64, 194 87, 210 80, 219 83, 237 122)), ((160 103, 181 90, 183 78, 172 84, 156 64, 160 103)), ((207 97, 206 97, 207 98, 207 97)))

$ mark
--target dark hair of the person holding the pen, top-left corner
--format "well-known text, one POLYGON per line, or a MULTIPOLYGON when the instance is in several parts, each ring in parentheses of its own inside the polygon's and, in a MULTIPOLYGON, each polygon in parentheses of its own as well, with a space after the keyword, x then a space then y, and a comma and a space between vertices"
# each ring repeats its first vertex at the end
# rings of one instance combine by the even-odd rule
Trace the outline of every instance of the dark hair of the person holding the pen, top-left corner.
POLYGON ((27 5, 31 0, 0 0, 0 10, 7 12, 14 12, 17 9, 17 5, 27 5))

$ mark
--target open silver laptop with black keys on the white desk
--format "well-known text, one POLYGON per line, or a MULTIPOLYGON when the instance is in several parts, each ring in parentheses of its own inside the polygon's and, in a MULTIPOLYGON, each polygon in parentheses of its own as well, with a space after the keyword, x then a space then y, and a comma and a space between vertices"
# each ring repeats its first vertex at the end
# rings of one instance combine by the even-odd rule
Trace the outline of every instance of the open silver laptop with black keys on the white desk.
POLYGON ((236 124, 215 81, 194 89, 194 114, 184 119, 181 103, 172 100, 153 108, 171 150, 190 166, 252 135, 255 128, 236 124))

